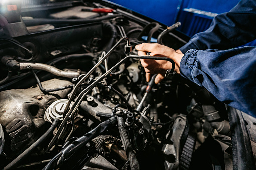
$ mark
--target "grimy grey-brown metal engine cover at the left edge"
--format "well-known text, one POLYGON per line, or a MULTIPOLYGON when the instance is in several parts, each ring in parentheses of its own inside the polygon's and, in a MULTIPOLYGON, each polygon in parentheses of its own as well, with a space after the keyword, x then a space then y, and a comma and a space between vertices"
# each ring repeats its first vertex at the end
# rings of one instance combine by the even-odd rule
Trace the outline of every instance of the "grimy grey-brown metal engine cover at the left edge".
MULTIPOLYGON (((66 80, 51 79, 42 82, 45 88, 59 88, 72 84, 66 80)), ((64 98, 70 89, 43 94, 39 87, 12 89, 0 92, 0 124, 11 139, 11 150, 15 154, 24 151, 40 134, 38 128, 45 124, 44 112, 57 100, 64 98), (38 100, 38 96, 42 96, 38 100)))

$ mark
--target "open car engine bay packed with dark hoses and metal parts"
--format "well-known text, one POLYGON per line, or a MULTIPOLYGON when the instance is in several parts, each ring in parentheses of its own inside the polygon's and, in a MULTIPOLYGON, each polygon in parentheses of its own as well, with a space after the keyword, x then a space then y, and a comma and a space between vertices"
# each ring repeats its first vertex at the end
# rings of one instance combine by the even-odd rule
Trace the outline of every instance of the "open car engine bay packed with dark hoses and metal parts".
POLYGON ((233 169, 244 155, 254 164, 255 118, 174 68, 146 82, 140 59, 173 61, 135 45, 179 49, 189 40, 181 23, 105 1, 6 3, 17 10, 0 18, 1 168, 233 169))

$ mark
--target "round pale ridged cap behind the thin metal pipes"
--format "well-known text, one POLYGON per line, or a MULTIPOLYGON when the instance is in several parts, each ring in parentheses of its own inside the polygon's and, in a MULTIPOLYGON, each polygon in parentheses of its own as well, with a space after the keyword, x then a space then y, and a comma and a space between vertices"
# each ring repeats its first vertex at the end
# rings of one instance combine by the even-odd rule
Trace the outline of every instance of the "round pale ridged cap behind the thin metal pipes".
MULTIPOLYGON (((65 110, 67 102, 68 102, 67 99, 60 99, 60 100, 53 102, 46 109, 45 114, 44 114, 44 120, 52 123, 54 119, 58 118, 60 121, 62 121, 63 120, 63 112, 65 110)), ((71 102, 69 108, 71 108, 73 104, 74 104, 74 102, 71 102)), ((74 119, 77 117, 77 114, 78 114, 78 109, 75 111, 75 113, 73 115, 74 119)), ((70 123, 70 122, 71 122, 71 120, 69 117, 67 123, 70 123)))

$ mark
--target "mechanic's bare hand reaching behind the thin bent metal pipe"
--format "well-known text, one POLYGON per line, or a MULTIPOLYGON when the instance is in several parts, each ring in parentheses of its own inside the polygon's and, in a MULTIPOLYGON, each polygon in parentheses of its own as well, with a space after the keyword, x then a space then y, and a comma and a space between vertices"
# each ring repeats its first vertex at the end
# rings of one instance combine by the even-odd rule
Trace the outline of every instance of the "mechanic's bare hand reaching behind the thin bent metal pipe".
MULTIPOLYGON (((175 51, 172 48, 158 43, 142 43, 136 45, 135 48, 138 50, 139 56, 145 56, 147 55, 147 52, 150 52, 149 56, 168 57, 173 59, 175 62, 175 71, 180 74, 180 62, 183 57, 180 50, 175 51)), ((150 74, 159 73, 155 78, 156 84, 162 81, 165 77, 166 71, 172 68, 172 63, 163 60, 140 59, 140 62, 146 71, 147 82, 150 80, 150 74)))

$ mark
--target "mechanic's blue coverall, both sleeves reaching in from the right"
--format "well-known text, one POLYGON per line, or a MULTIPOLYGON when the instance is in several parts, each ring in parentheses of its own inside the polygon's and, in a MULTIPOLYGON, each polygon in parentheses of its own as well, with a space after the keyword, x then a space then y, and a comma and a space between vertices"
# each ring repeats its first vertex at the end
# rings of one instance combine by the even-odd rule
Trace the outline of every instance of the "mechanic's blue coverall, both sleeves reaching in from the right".
POLYGON ((256 47, 235 48, 255 39, 256 1, 242 0, 180 48, 185 53, 180 73, 218 100, 256 117, 256 47))

